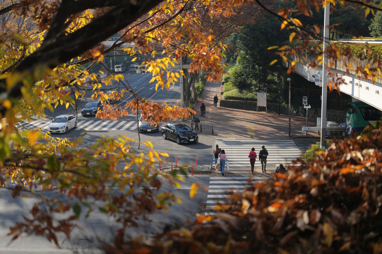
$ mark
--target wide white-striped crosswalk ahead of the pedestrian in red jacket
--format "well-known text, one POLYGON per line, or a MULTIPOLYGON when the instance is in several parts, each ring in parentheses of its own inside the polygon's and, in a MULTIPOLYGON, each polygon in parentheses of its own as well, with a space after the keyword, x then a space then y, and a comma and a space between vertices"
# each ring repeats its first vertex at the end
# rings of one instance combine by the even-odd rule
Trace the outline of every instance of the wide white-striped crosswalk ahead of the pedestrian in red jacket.
POLYGON ((216 139, 215 145, 224 149, 230 168, 250 168, 248 153, 255 148, 257 159, 255 167, 261 167, 259 152, 261 146, 265 145, 268 150, 267 168, 275 168, 280 163, 284 166, 290 165, 291 161, 300 157, 301 151, 292 140, 282 139, 216 139))

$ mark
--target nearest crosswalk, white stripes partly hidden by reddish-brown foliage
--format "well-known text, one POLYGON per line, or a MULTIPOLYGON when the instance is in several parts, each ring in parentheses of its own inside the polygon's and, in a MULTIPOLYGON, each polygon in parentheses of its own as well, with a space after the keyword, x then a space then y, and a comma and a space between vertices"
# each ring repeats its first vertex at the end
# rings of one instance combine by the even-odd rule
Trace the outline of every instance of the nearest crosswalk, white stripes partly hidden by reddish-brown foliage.
POLYGON ((248 187, 253 186, 254 182, 264 180, 264 177, 252 177, 252 182, 248 182, 250 177, 210 177, 207 204, 205 215, 214 215, 218 210, 214 209, 219 204, 227 204, 230 192, 241 193, 248 187))

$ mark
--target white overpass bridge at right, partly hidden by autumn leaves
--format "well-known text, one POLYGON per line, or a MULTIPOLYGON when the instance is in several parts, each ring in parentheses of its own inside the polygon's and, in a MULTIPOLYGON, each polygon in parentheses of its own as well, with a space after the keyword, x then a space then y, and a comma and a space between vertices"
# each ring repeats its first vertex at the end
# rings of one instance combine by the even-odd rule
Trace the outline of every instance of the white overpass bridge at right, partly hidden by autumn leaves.
MULTIPOLYGON (((308 61, 316 61, 312 55, 305 54, 304 57, 308 61)), ((317 68, 308 67, 307 62, 304 60, 302 55, 293 55, 288 57, 288 61, 284 63, 286 67, 291 66, 291 62, 297 60, 298 62, 295 65, 295 73, 301 75, 309 81, 314 82, 316 85, 322 87, 322 83, 327 84, 328 81, 331 81, 332 78, 322 82, 322 64, 317 68), (319 75, 319 79, 313 77, 314 74, 319 75)), ((349 74, 346 73, 346 68, 344 67, 344 59, 340 58, 334 62, 331 72, 337 73, 345 81, 346 84, 340 85, 339 89, 342 93, 352 96, 352 101, 363 101, 373 107, 376 107, 379 110, 382 110, 382 78, 378 77, 377 80, 372 83, 371 79, 362 80, 356 77, 356 72, 349 70, 349 74)), ((352 58, 350 61, 346 61, 351 65, 366 65, 372 64, 369 60, 359 60, 358 58, 352 58)))

